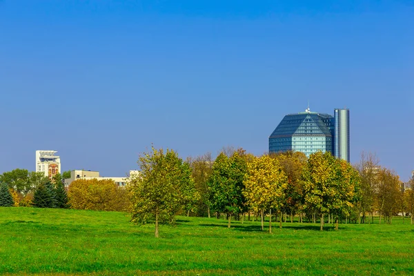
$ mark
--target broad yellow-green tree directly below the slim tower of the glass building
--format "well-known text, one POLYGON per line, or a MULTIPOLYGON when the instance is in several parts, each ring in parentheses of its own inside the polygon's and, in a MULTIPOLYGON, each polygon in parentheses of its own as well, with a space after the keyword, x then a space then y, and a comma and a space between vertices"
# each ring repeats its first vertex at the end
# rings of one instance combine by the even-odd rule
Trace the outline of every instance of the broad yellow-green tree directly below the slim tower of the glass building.
MULTIPOLYGON (((357 172, 346 161, 335 159, 330 152, 313 153, 302 173, 304 208, 317 211, 324 229, 324 215, 349 215, 359 184, 357 172)), ((337 224, 335 226, 337 228, 337 224)))

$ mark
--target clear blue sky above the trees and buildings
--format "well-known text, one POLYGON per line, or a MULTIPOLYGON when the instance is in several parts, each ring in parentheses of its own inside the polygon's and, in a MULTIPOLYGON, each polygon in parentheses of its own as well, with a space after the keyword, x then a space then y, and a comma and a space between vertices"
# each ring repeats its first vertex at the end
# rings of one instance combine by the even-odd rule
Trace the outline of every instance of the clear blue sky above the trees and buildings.
POLYGON ((261 155, 284 115, 351 110, 362 150, 414 169, 414 2, 0 0, 0 172, 122 176, 139 152, 261 155))

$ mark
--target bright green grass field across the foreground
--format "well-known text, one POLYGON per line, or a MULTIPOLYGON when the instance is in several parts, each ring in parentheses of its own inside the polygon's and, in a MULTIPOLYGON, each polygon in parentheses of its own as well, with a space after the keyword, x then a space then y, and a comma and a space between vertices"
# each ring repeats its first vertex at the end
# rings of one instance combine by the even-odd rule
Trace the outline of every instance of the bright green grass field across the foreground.
POLYGON ((177 227, 135 226, 128 214, 0 208, 6 275, 414 275, 414 226, 259 222, 177 217, 177 227), (274 226, 277 226, 274 224, 274 226))

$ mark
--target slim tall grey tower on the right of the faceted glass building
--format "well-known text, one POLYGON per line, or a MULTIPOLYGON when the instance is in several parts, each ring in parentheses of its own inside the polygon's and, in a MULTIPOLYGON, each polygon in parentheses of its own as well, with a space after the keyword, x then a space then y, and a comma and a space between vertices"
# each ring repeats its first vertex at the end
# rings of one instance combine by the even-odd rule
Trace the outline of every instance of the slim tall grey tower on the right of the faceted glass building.
POLYGON ((333 155, 349 162, 349 109, 335 108, 335 132, 333 155))

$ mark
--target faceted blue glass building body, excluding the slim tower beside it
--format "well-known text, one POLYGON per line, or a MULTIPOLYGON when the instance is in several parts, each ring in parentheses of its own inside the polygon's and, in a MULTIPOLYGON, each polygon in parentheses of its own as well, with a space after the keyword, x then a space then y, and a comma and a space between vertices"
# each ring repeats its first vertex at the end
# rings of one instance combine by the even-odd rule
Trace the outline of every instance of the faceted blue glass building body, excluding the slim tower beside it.
POLYGON ((305 112, 286 115, 269 137, 269 153, 288 150, 304 152, 333 152, 335 120, 331 115, 305 112))

